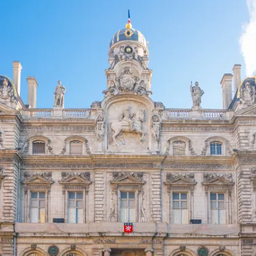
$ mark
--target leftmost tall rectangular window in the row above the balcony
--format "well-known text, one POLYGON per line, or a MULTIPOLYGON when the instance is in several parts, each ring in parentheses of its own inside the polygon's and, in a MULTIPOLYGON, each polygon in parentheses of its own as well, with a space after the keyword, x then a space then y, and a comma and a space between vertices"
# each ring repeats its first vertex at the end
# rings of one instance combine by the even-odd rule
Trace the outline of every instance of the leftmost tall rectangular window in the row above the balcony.
POLYGON ((45 223, 45 192, 31 192, 31 223, 45 223))

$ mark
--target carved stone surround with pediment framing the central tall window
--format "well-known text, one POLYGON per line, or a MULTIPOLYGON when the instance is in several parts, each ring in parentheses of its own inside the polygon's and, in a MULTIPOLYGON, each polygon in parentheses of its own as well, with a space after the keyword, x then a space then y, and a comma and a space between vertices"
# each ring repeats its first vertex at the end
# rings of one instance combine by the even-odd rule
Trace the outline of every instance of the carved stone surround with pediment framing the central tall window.
POLYGON ((147 222, 143 205, 143 185, 145 184, 145 181, 143 180, 143 172, 113 172, 113 180, 111 180, 110 183, 113 184, 113 207, 111 209, 109 221, 118 221, 116 216, 116 212, 120 212, 117 205, 118 191, 120 191, 120 189, 134 189, 137 190, 138 195, 140 195, 138 202, 138 209, 140 210, 138 211, 138 222, 147 222))

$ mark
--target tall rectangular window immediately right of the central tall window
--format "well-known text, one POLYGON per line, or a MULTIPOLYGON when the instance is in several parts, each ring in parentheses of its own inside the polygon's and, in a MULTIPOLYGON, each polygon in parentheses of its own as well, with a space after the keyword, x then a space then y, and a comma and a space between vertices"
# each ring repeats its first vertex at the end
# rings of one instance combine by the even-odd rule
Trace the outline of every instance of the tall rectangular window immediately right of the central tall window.
POLYGON ((173 224, 188 224, 188 193, 172 193, 173 224))

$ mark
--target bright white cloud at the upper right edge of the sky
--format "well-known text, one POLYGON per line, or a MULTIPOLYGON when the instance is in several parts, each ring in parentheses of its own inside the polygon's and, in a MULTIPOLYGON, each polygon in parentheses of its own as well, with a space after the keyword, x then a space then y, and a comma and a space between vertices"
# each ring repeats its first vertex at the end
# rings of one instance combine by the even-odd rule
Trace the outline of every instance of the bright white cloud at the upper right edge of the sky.
POLYGON ((243 26, 240 37, 241 52, 246 65, 246 76, 256 73, 256 0, 246 0, 250 22, 243 26))

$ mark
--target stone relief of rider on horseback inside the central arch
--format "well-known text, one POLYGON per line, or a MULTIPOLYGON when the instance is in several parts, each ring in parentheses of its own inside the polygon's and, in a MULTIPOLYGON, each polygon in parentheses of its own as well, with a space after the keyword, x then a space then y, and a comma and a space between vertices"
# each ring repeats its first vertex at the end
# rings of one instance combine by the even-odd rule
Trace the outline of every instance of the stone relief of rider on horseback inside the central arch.
POLYGON ((123 132, 126 133, 132 133, 132 134, 138 134, 138 142, 141 145, 141 147, 144 148, 144 145, 142 143, 142 140, 144 138, 144 132, 143 132, 143 126, 142 123, 144 122, 144 111, 143 109, 140 109, 137 111, 137 113, 130 114, 129 111, 130 106, 127 105, 125 110, 122 111, 122 114, 119 118, 119 120, 114 120, 110 123, 110 127, 113 131, 112 140, 113 143, 116 146, 119 146, 116 140, 119 140, 122 142, 123 145, 125 145, 125 140, 122 138, 119 138, 118 136, 121 135, 123 132))

